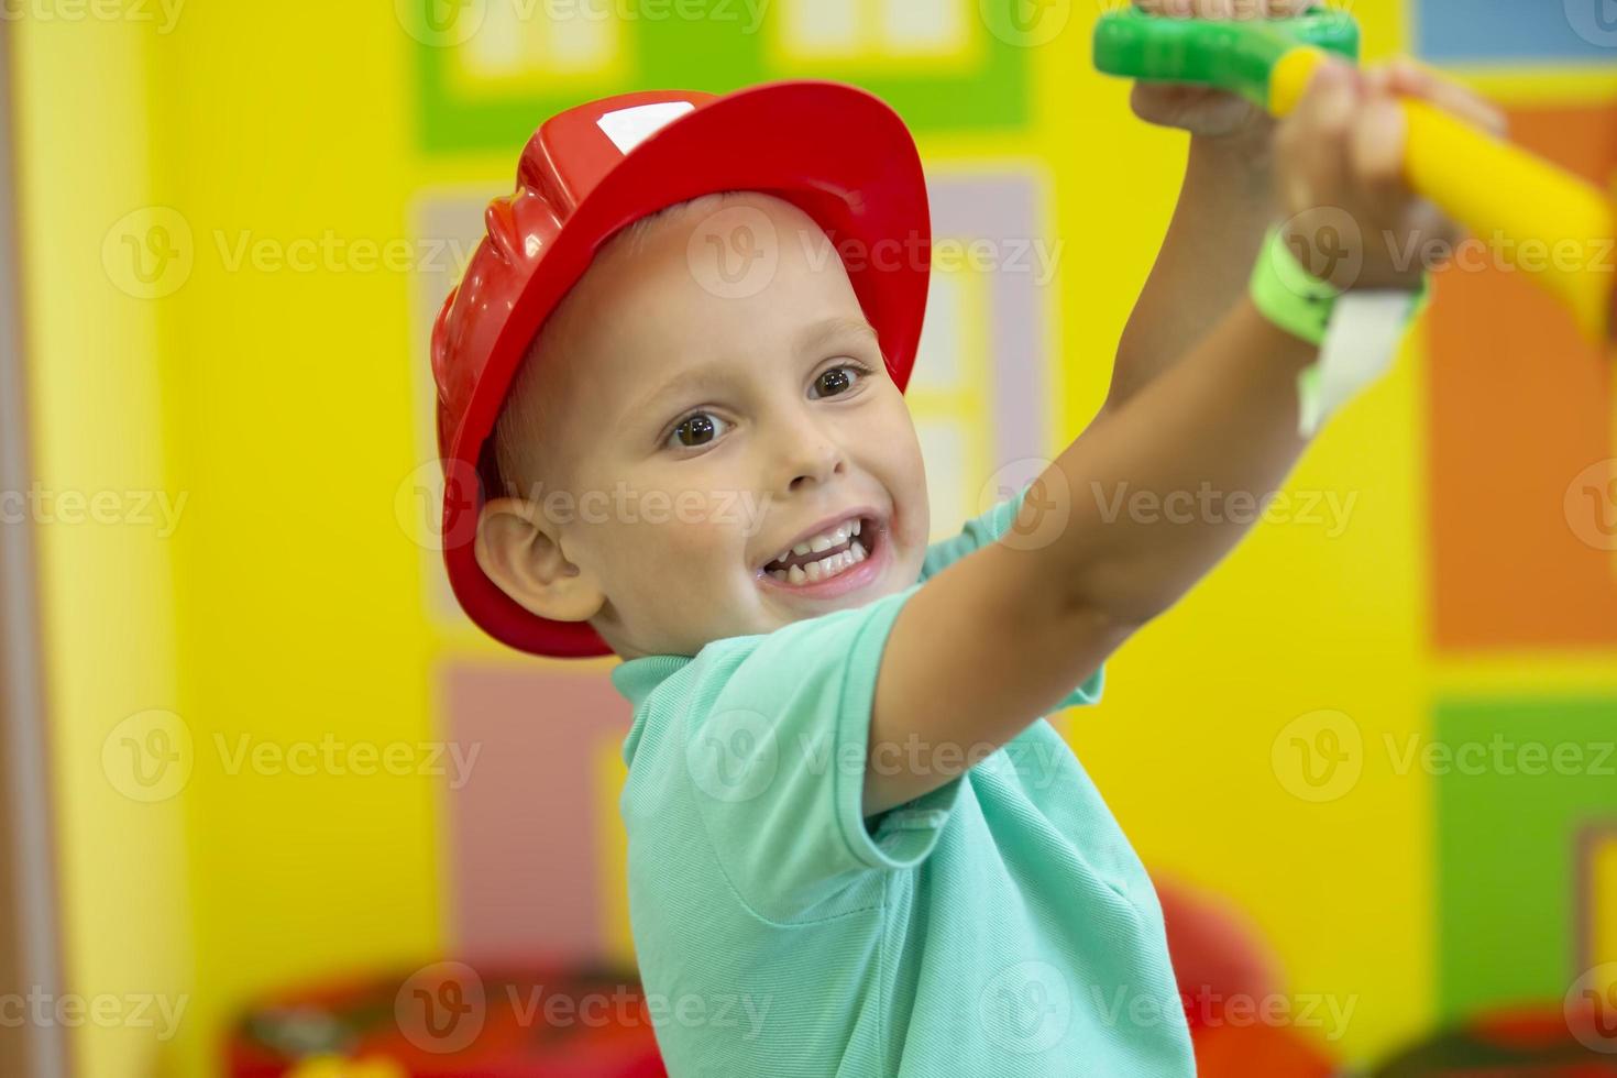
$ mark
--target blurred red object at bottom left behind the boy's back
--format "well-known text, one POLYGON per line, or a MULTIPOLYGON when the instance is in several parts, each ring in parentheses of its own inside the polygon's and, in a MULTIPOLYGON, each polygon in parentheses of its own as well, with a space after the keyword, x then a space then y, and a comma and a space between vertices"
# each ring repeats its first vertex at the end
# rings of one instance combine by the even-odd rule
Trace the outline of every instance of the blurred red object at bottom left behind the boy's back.
MULTIPOLYGON (((658 1018, 661 1018, 658 1015, 658 1018)), ((409 1078, 665 1078, 632 975, 440 962, 275 996, 238 1023, 226 1073, 283 1078, 317 1060, 409 1078)))

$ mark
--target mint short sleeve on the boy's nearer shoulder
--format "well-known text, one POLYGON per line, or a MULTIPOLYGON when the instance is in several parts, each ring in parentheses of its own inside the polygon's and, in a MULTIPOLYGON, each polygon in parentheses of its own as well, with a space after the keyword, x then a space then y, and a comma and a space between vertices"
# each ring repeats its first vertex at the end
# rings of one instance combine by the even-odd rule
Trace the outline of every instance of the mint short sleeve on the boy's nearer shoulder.
POLYGON ((959 777, 873 831, 863 816, 876 672, 918 587, 724 642, 742 651, 720 659, 711 703, 687 713, 699 811, 731 886, 760 916, 825 916, 857 879, 918 865, 954 808, 959 777))

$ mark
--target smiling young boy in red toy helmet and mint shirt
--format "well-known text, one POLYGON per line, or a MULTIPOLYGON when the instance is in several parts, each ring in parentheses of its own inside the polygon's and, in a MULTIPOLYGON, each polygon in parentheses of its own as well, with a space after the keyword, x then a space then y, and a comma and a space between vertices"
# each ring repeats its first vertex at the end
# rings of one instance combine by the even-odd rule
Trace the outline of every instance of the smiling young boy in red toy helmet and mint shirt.
POLYGON ((1245 532, 1108 522, 1090 491, 1276 488, 1337 288, 1410 293, 1391 252, 1452 234, 1397 179, 1394 92, 1497 123, 1408 66, 1331 65, 1277 131, 1138 87, 1193 139, 1106 406, 933 546, 902 396, 930 233, 897 118, 792 82, 535 134, 433 331, 445 556, 500 640, 624 659, 669 1073, 1193 1073, 1151 881, 1040 716, 1095 703, 1245 532), (1336 288, 1284 246, 1319 210, 1360 233, 1336 288))

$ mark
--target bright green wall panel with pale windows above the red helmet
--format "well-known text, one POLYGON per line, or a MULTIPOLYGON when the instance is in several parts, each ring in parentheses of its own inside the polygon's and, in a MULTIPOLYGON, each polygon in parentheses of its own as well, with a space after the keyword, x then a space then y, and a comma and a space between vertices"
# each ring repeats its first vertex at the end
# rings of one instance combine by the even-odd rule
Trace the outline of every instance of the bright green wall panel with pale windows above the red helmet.
MULTIPOLYGON (((1028 45, 1040 40, 1012 32, 1019 24, 996 29, 1003 19, 983 18, 978 0, 852 6, 681 0, 644 10, 610 0, 398 0, 395 6, 416 44, 419 137, 433 154, 516 154, 548 116, 610 94, 723 94, 786 78, 862 86, 915 131, 1015 129, 1028 116, 1028 45)), ((1051 26, 1075 32, 1067 16, 1051 26)), ((1054 16, 1041 11, 1041 18, 1054 16)))

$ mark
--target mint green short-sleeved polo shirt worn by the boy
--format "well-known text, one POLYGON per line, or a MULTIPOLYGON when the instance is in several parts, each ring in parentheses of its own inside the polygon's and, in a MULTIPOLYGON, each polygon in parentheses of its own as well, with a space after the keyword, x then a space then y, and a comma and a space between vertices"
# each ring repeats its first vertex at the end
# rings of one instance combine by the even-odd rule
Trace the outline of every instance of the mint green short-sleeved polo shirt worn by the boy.
POLYGON ((897 595, 613 669, 634 705, 629 920, 673 1078, 1195 1073, 1156 892, 1049 722, 964 773, 920 745, 878 756, 952 777, 860 811, 893 619, 1022 493, 897 595))

